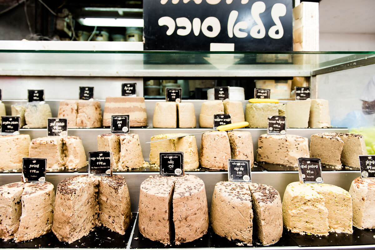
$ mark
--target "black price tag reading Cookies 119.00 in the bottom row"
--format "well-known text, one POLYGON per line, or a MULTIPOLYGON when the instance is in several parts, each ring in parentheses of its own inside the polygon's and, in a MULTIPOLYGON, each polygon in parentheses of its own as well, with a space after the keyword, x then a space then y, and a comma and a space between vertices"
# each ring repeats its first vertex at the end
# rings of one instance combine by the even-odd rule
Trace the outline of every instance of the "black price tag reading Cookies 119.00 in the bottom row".
POLYGON ((22 158, 23 182, 45 182, 47 159, 22 158))

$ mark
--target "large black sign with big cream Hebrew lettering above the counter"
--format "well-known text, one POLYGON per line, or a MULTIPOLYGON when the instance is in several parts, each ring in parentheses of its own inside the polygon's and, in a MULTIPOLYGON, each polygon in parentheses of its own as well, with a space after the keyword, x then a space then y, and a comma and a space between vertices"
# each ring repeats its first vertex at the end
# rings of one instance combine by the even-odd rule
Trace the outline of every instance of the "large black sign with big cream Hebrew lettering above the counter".
POLYGON ((144 49, 226 43, 235 51, 293 51, 292 7, 292 0, 144 0, 144 49))

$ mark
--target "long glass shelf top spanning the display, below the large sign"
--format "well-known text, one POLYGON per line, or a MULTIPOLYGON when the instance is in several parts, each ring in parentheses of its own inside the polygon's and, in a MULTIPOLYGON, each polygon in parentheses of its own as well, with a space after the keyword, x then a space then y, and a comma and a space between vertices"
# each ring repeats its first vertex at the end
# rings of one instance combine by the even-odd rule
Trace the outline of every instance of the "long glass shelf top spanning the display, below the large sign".
MULTIPOLYGON (((0 48, 4 48, 1 47, 0 48)), ((375 63, 375 52, 197 52, 0 49, 17 76, 312 76, 375 63)))

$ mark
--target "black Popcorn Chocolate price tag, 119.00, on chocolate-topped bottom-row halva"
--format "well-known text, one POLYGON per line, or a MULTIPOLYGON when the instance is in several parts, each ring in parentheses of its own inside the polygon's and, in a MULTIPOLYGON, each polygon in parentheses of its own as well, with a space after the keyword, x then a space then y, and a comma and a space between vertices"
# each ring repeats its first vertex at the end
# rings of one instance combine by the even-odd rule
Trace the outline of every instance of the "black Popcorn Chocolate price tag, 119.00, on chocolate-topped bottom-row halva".
POLYGON ((110 151, 89 152, 89 174, 112 176, 112 156, 110 151))

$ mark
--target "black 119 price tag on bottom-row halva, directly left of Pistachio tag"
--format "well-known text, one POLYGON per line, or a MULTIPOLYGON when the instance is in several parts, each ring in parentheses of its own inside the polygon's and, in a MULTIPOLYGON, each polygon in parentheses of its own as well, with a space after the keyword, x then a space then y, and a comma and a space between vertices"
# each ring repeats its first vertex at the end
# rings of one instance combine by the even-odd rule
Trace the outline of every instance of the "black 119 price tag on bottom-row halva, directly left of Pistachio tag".
POLYGON ((249 160, 228 159, 229 182, 251 182, 249 160))

